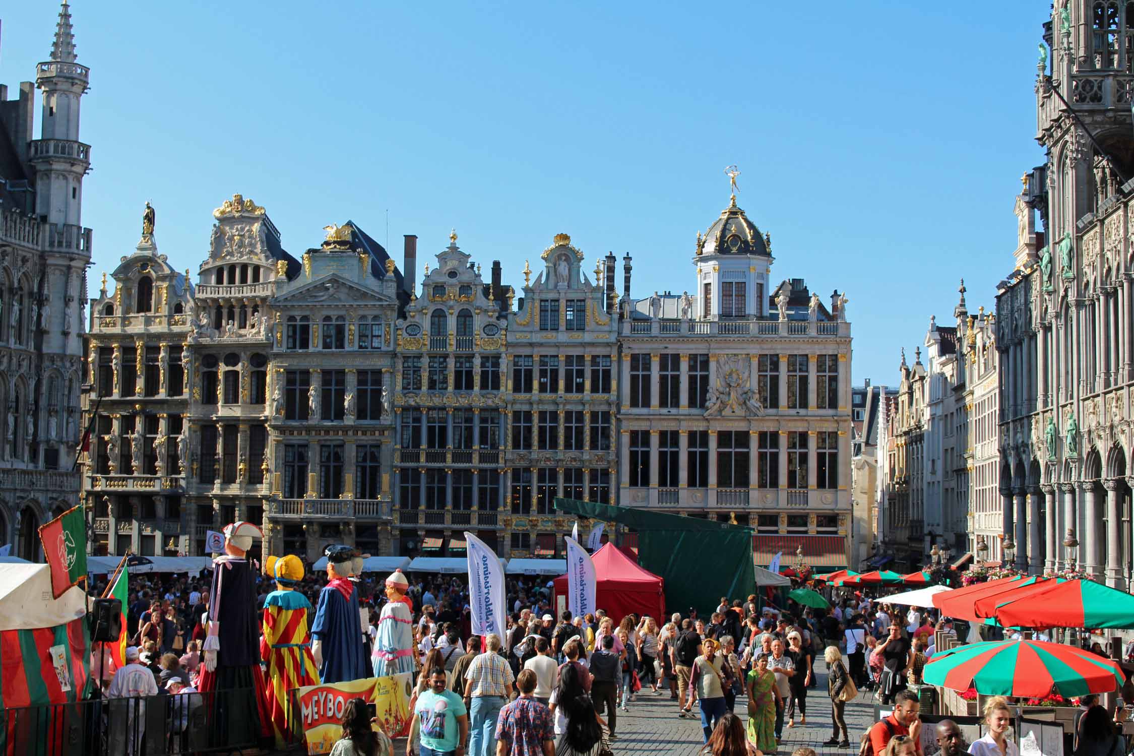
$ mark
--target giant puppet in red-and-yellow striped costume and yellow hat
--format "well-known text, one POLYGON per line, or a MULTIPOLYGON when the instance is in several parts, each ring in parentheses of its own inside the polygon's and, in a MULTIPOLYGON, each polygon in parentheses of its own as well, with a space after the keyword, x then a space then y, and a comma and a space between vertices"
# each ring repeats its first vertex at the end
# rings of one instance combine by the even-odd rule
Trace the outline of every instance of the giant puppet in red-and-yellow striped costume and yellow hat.
POLYGON ((295 589, 303 579, 303 562, 295 554, 269 557, 265 572, 276 578, 276 591, 264 598, 260 657, 268 663, 269 708, 276 747, 285 748, 289 733, 291 697, 288 691, 319 685, 319 668, 311 655, 307 615, 311 602, 295 589))

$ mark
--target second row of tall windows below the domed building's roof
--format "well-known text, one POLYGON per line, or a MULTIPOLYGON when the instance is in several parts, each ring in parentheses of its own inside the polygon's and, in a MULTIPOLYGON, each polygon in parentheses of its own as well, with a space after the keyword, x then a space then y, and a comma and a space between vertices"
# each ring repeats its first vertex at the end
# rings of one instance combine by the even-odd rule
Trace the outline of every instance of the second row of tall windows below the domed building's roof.
MULTIPOLYGON (((721 489, 778 489, 780 485, 780 439, 777 431, 759 431, 756 435, 756 465, 752 466, 751 433, 748 431, 717 432, 717 479, 709 475, 709 432, 688 431, 686 438, 686 486, 704 489, 716 484, 721 489)), ((784 453, 787 455, 788 489, 809 486, 811 436, 806 431, 789 431, 784 453)), ((672 489, 680 485, 680 433, 659 431, 658 475, 651 479, 650 451, 651 432, 629 432, 629 485, 649 487, 658 485, 672 489)), ((815 487, 837 489, 838 442, 835 431, 815 433, 815 487)))

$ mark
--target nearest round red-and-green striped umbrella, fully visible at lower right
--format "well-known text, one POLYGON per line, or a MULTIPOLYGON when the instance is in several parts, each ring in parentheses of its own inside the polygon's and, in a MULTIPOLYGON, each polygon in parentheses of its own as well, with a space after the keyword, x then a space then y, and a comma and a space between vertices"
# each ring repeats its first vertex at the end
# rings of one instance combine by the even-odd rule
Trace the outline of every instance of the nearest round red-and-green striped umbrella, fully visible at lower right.
POLYGON ((1120 688, 1117 662, 1042 640, 991 640, 956 646, 933 655, 925 682, 954 690, 975 688, 985 696, 1042 698, 1051 693, 1085 696, 1120 688))

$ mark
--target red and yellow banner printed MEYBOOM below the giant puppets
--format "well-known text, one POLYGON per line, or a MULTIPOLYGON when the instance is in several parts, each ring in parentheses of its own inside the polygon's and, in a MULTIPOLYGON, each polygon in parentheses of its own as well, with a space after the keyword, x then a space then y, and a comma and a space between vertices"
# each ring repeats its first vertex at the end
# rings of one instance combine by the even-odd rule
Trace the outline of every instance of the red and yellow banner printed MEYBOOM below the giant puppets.
POLYGON ((335 744, 342 737, 342 712, 354 698, 375 705, 379 728, 391 739, 408 736, 409 722, 413 720, 409 711, 412 693, 411 672, 299 688, 299 717, 307 740, 307 753, 331 753, 335 744))

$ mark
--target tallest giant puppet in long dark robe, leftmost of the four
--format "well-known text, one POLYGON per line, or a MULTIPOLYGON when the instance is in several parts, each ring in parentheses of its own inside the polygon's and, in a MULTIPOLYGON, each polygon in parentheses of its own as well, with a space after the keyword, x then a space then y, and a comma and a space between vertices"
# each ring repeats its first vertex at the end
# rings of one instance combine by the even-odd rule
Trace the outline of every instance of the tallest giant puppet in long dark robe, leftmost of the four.
POLYGON ((257 648, 256 568, 247 557, 252 541, 262 537, 252 523, 232 523, 225 528, 225 553, 213 560, 204 669, 197 687, 203 694, 225 691, 212 697, 209 723, 210 737, 219 745, 271 737, 257 648))

